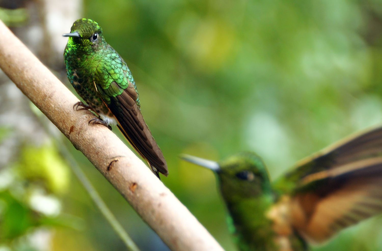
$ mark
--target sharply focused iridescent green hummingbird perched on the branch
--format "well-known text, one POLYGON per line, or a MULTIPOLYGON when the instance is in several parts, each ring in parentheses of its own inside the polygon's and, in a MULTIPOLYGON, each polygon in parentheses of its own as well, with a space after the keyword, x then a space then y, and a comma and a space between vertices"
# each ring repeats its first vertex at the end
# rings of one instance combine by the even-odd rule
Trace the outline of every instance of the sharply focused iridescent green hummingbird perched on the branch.
POLYGON ((123 58, 105 41, 102 28, 83 18, 62 36, 69 37, 64 52, 66 74, 86 102, 76 103, 76 110, 89 109, 99 116, 89 123, 110 129, 110 125, 117 124, 155 175, 159 178, 160 172, 167 176, 166 160, 142 117, 133 75, 123 58))

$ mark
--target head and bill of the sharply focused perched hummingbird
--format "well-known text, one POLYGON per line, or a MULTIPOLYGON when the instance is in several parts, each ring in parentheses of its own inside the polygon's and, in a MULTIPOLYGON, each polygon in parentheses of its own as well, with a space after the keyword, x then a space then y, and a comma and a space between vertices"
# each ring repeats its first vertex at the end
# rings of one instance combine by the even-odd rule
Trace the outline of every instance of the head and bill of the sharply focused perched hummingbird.
POLYGON ((102 28, 97 22, 87 18, 75 21, 70 33, 62 36, 69 37, 68 44, 87 52, 96 50, 100 44, 105 42, 102 28))

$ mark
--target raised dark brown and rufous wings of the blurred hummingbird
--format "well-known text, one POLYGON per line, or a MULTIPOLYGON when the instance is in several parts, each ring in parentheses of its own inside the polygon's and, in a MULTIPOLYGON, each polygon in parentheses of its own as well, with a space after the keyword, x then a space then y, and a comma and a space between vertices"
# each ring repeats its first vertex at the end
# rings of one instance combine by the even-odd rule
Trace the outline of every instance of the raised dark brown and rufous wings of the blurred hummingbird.
POLYGON ((290 194, 290 223, 307 240, 322 242, 382 212, 382 128, 306 159, 275 187, 290 194))

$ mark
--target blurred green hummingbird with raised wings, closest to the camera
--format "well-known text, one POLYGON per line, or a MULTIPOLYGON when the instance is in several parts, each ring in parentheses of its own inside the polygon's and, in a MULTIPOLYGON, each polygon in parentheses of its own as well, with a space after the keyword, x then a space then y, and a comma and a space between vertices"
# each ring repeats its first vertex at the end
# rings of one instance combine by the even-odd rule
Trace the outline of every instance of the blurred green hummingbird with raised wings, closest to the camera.
POLYGON ((298 162, 275 182, 261 158, 222 162, 183 155, 214 171, 242 251, 301 251, 382 212, 382 127, 298 162))

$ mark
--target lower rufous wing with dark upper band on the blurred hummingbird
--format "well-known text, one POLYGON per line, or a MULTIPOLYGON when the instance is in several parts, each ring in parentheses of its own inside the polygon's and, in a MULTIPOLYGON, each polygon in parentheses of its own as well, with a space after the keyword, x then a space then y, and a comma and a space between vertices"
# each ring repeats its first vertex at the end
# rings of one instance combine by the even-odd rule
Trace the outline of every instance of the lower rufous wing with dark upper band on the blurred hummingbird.
POLYGON ((382 157, 308 175, 300 186, 291 199, 291 223, 307 240, 320 243, 382 212, 382 157))

